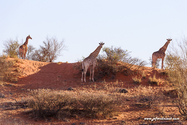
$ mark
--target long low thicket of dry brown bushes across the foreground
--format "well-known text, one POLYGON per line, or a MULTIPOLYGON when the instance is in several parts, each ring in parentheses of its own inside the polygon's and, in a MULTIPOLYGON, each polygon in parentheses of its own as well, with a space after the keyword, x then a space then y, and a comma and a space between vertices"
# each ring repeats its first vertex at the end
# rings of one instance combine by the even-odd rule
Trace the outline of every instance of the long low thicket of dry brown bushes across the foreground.
POLYGON ((104 117, 119 106, 117 97, 104 93, 54 91, 39 89, 31 91, 32 98, 28 98, 28 106, 32 108, 35 117, 47 118, 67 117, 104 117), (66 114, 65 116, 63 116, 66 114))

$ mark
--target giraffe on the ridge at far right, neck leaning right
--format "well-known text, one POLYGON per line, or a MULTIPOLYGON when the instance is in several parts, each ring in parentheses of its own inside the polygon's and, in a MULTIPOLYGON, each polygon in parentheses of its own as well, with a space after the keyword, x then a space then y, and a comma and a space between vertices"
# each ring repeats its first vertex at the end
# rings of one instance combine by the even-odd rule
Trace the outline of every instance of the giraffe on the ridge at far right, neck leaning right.
POLYGON ((152 54, 152 67, 155 67, 155 63, 157 59, 162 59, 162 69, 163 69, 164 57, 166 55, 165 51, 168 47, 168 44, 170 43, 172 39, 166 39, 166 40, 167 42, 164 44, 164 46, 152 54))

